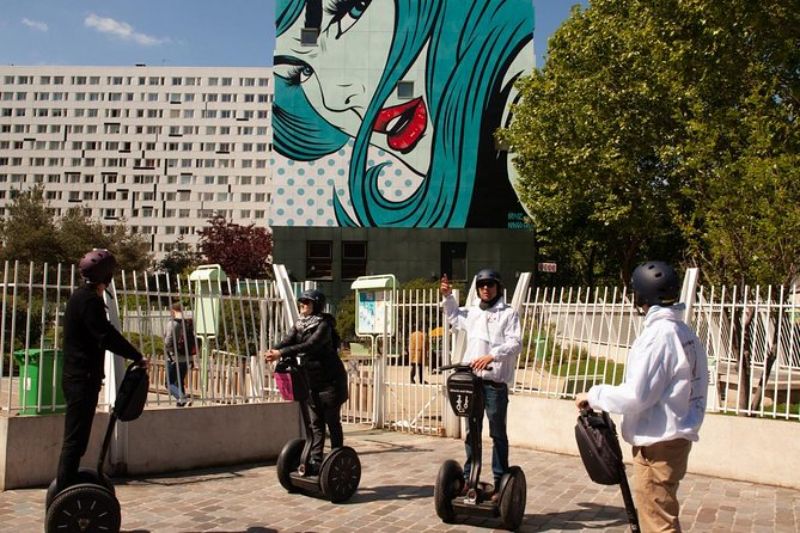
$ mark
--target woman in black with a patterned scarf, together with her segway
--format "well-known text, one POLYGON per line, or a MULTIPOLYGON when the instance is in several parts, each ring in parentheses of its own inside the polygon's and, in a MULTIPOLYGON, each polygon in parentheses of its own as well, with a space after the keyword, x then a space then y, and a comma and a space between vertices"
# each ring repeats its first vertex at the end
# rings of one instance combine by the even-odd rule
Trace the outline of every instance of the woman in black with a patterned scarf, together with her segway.
POLYGON ((288 335, 267 352, 278 360, 275 379, 284 399, 300 404, 304 438, 286 443, 278 456, 278 480, 289 492, 322 494, 331 502, 348 500, 361 480, 361 462, 344 446, 340 420, 347 400, 347 374, 338 355, 334 319, 323 313, 325 295, 304 291, 298 298, 301 317, 288 335), (331 452, 323 456, 325 427, 331 452))

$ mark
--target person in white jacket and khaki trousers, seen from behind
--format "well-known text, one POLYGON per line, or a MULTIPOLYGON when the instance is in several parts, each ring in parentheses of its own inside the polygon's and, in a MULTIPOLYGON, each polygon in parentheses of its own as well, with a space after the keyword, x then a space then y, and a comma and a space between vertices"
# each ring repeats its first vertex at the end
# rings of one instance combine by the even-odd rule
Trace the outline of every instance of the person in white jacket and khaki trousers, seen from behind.
POLYGON ((661 261, 639 265, 631 286, 644 328, 628 355, 621 385, 579 394, 579 409, 622 414, 633 445, 633 492, 642 531, 680 531, 678 485, 698 440, 708 389, 708 362, 678 304, 679 280, 661 261))

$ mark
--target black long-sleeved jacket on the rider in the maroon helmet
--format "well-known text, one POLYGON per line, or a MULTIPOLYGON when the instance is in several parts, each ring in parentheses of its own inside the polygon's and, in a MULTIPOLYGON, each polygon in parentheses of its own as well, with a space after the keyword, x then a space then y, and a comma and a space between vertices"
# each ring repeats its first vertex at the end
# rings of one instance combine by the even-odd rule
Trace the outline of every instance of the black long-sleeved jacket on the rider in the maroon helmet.
POLYGON ((105 351, 139 361, 142 354, 111 325, 94 287, 77 289, 64 313, 64 379, 103 379, 105 351))

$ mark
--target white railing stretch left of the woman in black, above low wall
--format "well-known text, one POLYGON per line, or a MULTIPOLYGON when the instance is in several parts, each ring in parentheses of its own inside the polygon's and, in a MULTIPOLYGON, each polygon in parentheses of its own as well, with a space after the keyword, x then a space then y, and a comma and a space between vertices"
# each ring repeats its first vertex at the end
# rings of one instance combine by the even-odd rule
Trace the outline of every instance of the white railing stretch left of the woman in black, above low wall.
MULTIPOLYGON (((63 411, 63 313, 79 276, 74 267, 63 265, 6 262, 2 269, 0 411, 63 411)), ((167 387, 163 339, 173 302, 180 302, 189 317, 203 312, 195 307, 196 288, 180 276, 169 279, 123 272, 110 291, 119 310, 120 329, 151 361, 149 406, 175 403, 167 387)), ((189 361, 187 394, 195 404, 278 400, 271 371, 260 356, 285 333, 274 283, 228 281, 214 289, 219 293, 218 331, 215 335, 197 335, 196 355, 177 354, 178 360, 189 361)), ((101 396, 103 407, 107 407, 105 397, 101 396)))

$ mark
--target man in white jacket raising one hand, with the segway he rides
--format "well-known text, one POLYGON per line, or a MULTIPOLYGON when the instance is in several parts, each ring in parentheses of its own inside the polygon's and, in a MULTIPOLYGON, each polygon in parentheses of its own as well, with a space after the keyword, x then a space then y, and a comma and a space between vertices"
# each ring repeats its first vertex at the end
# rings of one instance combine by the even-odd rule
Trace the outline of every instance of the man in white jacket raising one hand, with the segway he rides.
POLYGON ((447 380, 448 397, 455 414, 468 418, 469 424, 464 468, 454 460, 442 465, 434 502, 445 522, 457 513, 500 516, 505 527, 516 529, 525 513, 526 480, 521 468, 508 465, 506 415, 508 384, 522 348, 519 316, 503 301, 496 271, 479 271, 475 285, 479 302, 465 308, 458 307, 446 276, 440 286, 447 320, 467 333, 462 363, 440 370, 456 370, 447 380), (492 485, 480 482, 484 412, 493 441, 492 485))

